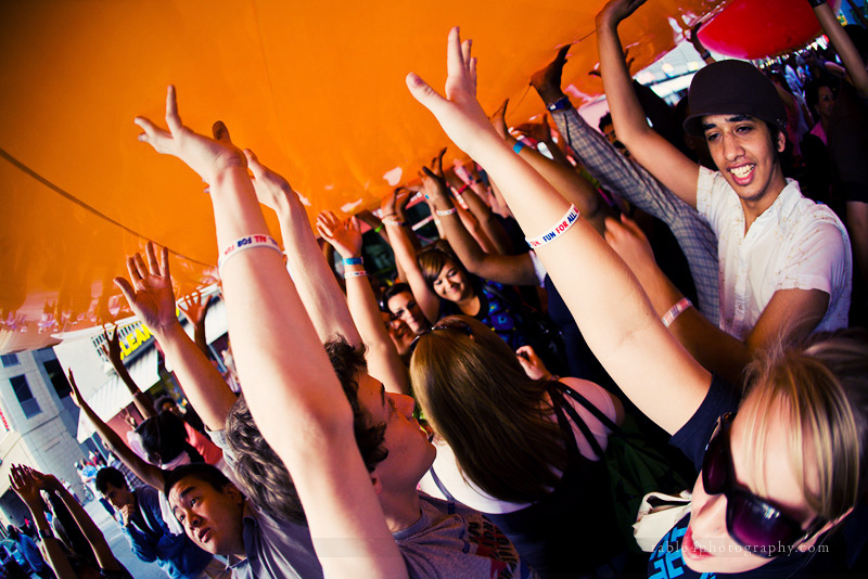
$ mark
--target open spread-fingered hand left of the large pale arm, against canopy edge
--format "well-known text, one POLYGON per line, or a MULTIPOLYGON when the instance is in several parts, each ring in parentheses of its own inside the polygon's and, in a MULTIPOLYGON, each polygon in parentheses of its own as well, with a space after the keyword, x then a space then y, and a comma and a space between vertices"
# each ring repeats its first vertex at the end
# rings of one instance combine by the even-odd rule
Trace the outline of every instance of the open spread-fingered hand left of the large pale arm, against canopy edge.
POLYGON ((115 278, 114 282, 136 316, 152 332, 159 332, 164 327, 177 324, 178 318, 175 316, 169 252, 163 247, 157 261, 154 247, 153 242, 148 242, 144 248, 148 257, 146 266, 141 254, 127 258, 129 282, 124 278, 115 278))

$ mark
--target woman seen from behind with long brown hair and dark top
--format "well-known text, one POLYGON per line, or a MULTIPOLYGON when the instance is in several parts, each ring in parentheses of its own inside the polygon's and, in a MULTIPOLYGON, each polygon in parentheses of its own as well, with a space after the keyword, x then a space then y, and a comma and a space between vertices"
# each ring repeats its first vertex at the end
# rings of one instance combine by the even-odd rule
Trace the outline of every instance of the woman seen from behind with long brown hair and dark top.
POLYGON ((617 398, 552 376, 533 348, 516 356, 467 316, 417 337, 410 381, 436 433, 422 490, 484 513, 542 578, 625 570, 613 562, 625 548, 601 461, 609 429, 564 388, 614 422, 624 415, 617 398))

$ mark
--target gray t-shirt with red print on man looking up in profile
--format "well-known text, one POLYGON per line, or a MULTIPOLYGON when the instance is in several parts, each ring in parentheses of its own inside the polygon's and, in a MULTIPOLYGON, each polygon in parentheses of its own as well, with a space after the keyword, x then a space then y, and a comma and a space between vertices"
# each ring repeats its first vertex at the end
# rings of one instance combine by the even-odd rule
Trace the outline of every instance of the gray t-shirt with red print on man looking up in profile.
POLYGON ((538 579, 512 542, 481 513, 420 492, 422 516, 392 536, 411 579, 538 579))

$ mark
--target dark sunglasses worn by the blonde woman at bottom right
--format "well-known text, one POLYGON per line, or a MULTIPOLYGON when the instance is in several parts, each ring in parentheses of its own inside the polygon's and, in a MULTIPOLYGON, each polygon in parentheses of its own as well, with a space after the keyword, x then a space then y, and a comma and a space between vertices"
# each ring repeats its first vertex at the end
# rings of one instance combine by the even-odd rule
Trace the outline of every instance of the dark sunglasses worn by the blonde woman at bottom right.
POLYGON ((751 553, 776 557, 789 552, 817 532, 826 522, 817 517, 807 530, 769 501, 736 487, 729 427, 733 414, 720 416, 702 459, 702 486, 709 494, 726 497, 726 528, 729 536, 751 553))

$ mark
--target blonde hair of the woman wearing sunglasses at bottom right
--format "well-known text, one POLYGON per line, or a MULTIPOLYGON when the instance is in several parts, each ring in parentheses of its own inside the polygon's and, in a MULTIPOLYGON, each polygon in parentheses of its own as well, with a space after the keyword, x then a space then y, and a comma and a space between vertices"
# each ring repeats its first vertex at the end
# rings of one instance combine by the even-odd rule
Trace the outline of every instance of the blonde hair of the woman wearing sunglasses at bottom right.
MULTIPOLYGON (((858 504, 868 481, 868 339, 863 331, 817 335, 801 346, 770 349, 748 369, 749 442, 763 472, 769 409, 789 429, 793 472, 807 503, 827 522, 858 504), (816 472, 809 468, 816 462, 816 472), (816 475, 817 485, 813 476, 816 475)), ((762 484, 762 480, 761 480, 762 484)), ((766 491, 757 489, 761 493, 766 491)))

